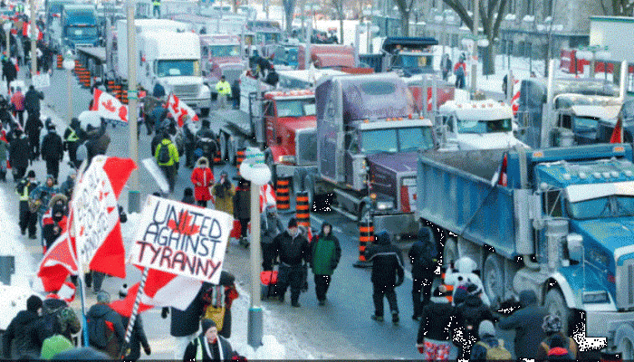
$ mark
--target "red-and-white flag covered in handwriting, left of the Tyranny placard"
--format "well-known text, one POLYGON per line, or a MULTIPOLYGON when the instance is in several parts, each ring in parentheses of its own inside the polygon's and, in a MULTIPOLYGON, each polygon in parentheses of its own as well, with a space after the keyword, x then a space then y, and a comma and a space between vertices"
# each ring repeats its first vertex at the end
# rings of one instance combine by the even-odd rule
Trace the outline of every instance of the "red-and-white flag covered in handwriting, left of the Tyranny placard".
POLYGON ((117 198, 134 168, 130 158, 100 155, 92 158, 75 186, 72 213, 77 257, 92 271, 125 278, 117 198))

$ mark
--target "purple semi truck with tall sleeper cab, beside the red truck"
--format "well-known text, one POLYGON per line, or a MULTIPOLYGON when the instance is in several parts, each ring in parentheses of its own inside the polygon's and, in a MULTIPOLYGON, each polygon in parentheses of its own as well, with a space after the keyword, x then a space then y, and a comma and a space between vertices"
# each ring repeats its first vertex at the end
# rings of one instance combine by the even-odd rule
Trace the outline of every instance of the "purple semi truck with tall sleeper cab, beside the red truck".
POLYGON ((307 191, 313 208, 416 233, 416 152, 437 140, 432 122, 411 114, 405 82, 395 73, 324 77, 315 99, 317 167, 296 169, 293 190, 307 191))

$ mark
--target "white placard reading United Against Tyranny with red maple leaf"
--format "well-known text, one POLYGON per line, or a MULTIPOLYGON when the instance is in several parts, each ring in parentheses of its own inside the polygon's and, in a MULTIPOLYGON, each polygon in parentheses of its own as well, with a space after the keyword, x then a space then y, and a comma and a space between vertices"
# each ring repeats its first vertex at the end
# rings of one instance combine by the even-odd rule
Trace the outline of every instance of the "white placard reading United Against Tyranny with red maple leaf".
POLYGON ((217 284, 232 224, 230 214, 150 195, 130 262, 217 284))

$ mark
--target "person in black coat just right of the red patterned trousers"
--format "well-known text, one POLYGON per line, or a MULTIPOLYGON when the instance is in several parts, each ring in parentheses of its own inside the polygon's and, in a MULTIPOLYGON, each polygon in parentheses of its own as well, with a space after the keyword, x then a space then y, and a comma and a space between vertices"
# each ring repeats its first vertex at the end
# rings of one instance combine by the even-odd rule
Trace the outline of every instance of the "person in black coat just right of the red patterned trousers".
POLYGON ((454 344, 458 347, 458 359, 468 359, 471 356, 471 348, 479 339, 477 329, 480 322, 493 319, 491 310, 480 300, 482 292, 476 284, 468 284, 465 301, 456 304, 456 319, 451 329, 454 344))

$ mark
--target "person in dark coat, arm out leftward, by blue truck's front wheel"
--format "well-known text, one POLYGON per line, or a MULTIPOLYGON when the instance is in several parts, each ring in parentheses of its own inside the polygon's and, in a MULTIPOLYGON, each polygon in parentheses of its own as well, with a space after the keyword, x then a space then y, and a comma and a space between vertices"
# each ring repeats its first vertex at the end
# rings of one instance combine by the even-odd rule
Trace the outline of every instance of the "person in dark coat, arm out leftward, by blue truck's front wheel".
POLYGON ((546 338, 542 324, 547 313, 543 307, 537 305, 534 291, 520 292, 520 304, 523 308, 500 320, 497 328, 515 329, 515 358, 535 358, 542 348, 540 343, 546 338))

